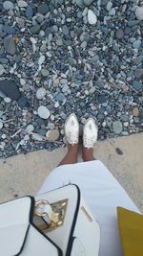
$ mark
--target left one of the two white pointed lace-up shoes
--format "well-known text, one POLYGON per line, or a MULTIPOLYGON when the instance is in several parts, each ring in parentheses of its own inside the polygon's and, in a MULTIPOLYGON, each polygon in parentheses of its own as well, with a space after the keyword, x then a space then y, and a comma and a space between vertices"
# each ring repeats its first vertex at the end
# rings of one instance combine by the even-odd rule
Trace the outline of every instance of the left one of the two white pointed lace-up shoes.
POLYGON ((72 146, 78 143, 79 123, 75 114, 71 114, 65 123, 65 136, 68 143, 72 146))

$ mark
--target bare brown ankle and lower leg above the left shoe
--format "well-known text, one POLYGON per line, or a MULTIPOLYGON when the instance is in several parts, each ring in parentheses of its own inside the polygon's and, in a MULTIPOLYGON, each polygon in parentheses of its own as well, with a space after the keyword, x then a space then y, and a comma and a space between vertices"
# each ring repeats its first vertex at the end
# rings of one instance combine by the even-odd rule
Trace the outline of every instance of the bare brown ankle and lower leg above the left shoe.
POLYGON ((68 144, 68 152, 58 166, 77 163, 77 155, 78 155, 78 143, 73 146, 71 144, 68 144))

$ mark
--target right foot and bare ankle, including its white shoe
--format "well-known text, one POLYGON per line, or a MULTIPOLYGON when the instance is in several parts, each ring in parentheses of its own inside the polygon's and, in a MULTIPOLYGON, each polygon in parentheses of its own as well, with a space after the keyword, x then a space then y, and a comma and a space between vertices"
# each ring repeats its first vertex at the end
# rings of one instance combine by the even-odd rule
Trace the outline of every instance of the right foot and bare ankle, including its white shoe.
POLYGON ((82 147, 82 157, 83 161, 95 160, 93 157, 93 148, 97 141, 98 128, 92 118, 90 118, 84 127, 83 132, 83 147, 82 147))

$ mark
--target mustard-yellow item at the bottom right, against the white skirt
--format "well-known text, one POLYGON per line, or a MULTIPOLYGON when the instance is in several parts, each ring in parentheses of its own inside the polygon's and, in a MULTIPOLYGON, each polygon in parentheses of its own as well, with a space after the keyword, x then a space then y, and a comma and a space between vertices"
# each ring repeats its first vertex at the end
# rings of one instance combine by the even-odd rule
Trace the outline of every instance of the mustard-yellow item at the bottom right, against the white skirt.
POLYGON ((117 207, 124 256, 143 256, 143 215, 117 207))

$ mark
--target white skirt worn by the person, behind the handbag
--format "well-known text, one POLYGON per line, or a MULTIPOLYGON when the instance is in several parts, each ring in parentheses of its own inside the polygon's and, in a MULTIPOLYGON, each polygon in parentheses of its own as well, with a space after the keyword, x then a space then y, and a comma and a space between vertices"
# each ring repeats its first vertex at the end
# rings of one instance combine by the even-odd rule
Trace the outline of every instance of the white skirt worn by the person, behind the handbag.
POLYGON ((139 213, 132 199, 129 198, 109 170, 98 160, 64 165, 54 169, 38 194, 69 183, 79 186, 94 218, 100 223, 99 256, 123 256, 118 233, 116 207, 122 206, 139 213))

